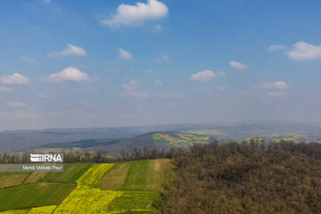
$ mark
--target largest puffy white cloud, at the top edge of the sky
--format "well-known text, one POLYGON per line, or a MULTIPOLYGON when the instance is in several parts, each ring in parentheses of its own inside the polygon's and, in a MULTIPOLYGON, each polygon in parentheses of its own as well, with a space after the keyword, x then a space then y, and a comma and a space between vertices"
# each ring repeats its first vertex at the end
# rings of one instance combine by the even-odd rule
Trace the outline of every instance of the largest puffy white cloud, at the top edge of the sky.
POLYGON ((120 25, 142 26, 144 21, 160 19, 168 12, 168 7, 157 0, 147 0, 147 4, 120 4, 116 14, 112 15, 111 19, 102 20, 101 23, 112 28, 118 28, 120 25))

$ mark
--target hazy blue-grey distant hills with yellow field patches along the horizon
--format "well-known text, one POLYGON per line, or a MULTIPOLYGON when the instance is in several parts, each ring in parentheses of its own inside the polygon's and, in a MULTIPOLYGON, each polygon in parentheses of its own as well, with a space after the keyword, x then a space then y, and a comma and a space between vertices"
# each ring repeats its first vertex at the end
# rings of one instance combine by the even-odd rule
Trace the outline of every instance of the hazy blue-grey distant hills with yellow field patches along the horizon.
POLYGON ((127 149, 132 148, 133 144, 157 145, 160 148, 185 147, 191 141, 202 144, 200 139, 183 140, 184 136, 175 138, 173 133, 210 136, 220 142, 242 142, 247 138, 259 137, 275 142, 283 139, 294 142, 321 143, 320 127, 293 122, 268 121, 238 124, 178 124, 124 128, 51 128, 0 131, 0 152, 30 151, 44 148, 46 144, 52 144, 51 146, 57 148, 75 147, 88 150, 109 147, 111 151, 119 151, 119 145, 123 145, 122 149, 127 149), (154 132, 160 132, 163 136, 152 135, 154 132), (147 144, 147 142, 149 143, 147 144), (166 144, 162 144, 162 142, 166 142, 166 144))

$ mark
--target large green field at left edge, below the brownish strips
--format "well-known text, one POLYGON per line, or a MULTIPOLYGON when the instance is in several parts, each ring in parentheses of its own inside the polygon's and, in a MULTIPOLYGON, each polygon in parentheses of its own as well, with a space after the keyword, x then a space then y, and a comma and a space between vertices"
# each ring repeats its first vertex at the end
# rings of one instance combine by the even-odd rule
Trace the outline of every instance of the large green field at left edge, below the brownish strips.
POLYGON ((39 183, 0 190, 0 211, 58 205, 76 187, 74 184, 39 183))

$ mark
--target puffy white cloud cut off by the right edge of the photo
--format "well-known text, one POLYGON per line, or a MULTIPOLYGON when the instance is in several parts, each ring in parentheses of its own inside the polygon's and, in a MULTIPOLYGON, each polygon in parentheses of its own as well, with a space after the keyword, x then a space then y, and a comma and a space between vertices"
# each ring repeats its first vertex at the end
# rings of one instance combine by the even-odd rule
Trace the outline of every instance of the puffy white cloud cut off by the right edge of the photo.
POLYGON ((287 52, 287 55, 290 59, 299 61, 321 59, 321 45, 297 42, 293 45, 293 50, 287 52))

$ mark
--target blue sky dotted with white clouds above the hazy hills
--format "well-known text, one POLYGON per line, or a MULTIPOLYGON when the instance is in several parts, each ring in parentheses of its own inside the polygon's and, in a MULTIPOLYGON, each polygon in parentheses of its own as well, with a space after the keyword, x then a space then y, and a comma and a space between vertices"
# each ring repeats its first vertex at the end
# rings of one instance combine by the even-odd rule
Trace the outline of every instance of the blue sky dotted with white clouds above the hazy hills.
POLYGON ((320 124, 320 1, 0 5, 0 129, 320 124))

